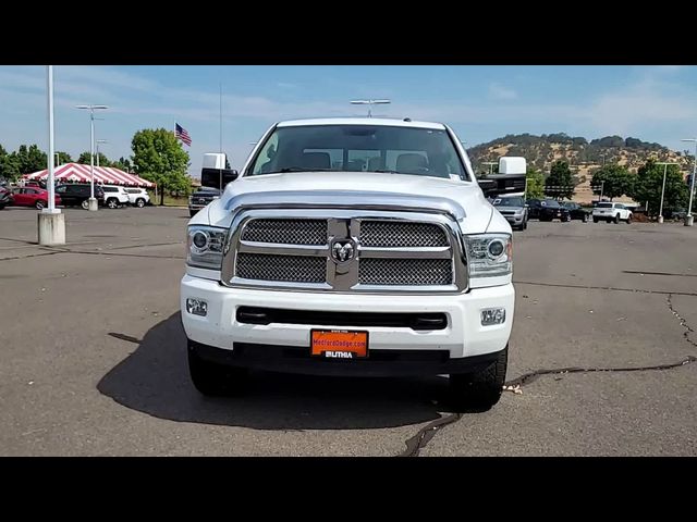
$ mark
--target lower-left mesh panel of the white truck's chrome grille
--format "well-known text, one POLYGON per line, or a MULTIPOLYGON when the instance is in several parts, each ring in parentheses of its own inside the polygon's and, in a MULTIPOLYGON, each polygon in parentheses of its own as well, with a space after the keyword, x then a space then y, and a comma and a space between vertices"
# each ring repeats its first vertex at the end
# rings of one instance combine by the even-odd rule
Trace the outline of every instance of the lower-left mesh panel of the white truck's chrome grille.
POLYGON ((289 283, 323 283, 327 279, 325 258, 310 256, 274 256, 237 253, 237 277, 289 283))

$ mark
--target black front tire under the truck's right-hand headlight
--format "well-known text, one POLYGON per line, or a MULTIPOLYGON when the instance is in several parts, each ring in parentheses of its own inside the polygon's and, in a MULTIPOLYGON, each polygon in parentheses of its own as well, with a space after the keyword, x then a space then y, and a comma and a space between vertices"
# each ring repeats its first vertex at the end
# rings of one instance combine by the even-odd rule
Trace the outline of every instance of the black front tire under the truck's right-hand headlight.
POLYGON ((489 366, 476 373, 450 376, 452 398, 457 406, 469 411, 487 411, 501 398, 505 371, 509 362, 509 347, 501 350, 489 366))

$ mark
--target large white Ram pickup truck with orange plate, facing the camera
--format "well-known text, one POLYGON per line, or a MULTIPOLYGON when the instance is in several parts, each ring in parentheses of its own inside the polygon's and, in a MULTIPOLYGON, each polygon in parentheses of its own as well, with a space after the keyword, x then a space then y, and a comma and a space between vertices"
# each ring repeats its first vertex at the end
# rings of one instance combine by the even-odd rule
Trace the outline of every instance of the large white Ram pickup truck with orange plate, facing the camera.
POLYGON ((187 231, 181 310, 200 393, 239 393, 254 369, 448 374, 456 403, 498 402, 511 226, 448 126, 276 124, 187 231))

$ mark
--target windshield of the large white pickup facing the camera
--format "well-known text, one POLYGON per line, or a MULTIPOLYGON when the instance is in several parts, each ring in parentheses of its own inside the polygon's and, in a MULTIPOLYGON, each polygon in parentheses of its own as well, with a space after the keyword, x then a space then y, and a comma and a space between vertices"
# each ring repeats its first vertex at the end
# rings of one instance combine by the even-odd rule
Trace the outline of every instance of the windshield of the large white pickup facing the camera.
POLYGON ((317 171, 468 179, 447 130, 386 125, 277 127, 246 175, 317 171))

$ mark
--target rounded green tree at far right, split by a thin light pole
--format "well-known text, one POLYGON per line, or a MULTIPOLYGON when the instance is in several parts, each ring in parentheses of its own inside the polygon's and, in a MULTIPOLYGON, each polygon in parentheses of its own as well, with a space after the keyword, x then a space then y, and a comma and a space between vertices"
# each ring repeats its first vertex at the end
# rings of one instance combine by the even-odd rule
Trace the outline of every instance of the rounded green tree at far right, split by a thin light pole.
MULTIPOLYGON (((664 165, 657 165, 655 160, 647 161, 639 167, 632 194, 635 201, 649 203, 649 214, 658 215, 661 204, 664 165)), ((689 188, 683 179, 677 165, 668 165, 665 172, 665 196, 663 208, 684 207, 687 203, 689 188)))

